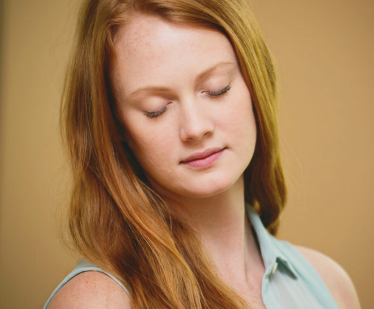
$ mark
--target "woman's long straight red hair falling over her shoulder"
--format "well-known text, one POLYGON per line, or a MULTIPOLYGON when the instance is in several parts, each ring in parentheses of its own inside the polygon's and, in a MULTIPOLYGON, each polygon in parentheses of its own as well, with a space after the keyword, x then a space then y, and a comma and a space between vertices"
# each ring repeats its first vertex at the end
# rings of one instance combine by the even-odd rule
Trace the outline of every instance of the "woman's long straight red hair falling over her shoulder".
POLYGON ((239 309, 192 230, 135 170, 121 141, 109 80, 117 29, 136 12, 214 28, 236 52, 252 97, 257 141, 245 199, 276 232, 286 189, 279 157, 271 56, 245 0, 85 0, 65 81, 61 125, 73 187, 69 228, 76 248, 116 274, 133 308, 239 309))

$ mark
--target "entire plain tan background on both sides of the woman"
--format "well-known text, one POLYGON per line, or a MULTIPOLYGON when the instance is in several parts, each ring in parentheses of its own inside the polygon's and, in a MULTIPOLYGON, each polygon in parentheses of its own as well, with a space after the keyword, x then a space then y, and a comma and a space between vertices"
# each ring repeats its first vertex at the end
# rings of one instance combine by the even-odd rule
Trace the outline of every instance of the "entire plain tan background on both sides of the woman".
MULTIPOLYGON (((78 1, 0 6, 0 308, 41 308, 76 258, 59 97, 78 1)), ((374 1, 251 0, 277 60, 289 203, 280 238, 338 261, 374 308, 374 1)))

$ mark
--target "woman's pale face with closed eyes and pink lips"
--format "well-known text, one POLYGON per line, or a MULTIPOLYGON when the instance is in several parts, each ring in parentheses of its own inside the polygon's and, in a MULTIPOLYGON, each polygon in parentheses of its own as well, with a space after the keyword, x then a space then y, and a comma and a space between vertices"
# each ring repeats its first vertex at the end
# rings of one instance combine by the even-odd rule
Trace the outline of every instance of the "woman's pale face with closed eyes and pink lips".
POLYGON ((256 126, 225 35, 135 15, 117 33, 111 82, 125 139, 162 196, 242 185, 256 126))

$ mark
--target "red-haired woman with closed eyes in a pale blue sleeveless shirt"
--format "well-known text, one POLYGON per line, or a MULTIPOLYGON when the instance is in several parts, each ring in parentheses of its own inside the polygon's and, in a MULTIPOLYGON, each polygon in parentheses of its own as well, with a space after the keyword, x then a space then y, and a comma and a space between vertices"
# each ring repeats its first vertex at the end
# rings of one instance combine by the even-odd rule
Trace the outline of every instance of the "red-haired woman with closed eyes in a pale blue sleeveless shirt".
POLYGON ((46 307, 359 308, 335 262, 268 233, 286 198, 276 82, 245 1, 80 16, 62 124, 85 260, 46 307))

